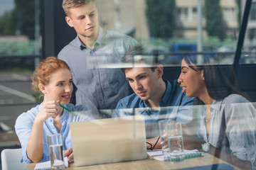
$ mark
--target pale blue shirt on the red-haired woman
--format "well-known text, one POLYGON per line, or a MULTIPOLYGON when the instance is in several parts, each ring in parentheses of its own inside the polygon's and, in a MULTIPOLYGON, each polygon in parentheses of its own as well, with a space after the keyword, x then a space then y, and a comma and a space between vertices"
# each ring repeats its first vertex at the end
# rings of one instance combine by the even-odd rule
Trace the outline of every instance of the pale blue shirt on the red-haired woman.
MULTIPOLYGON (((48 140, 47 136, 52 134, 60 133, 63 135, 63 149, 66 150, 69 147, 72 147, 71 136, 70 136, 70 123, 80 122, 86 120, 92 120, 92 114, 85 106, 74 106, 73 104, 65 105, 66 108, 69 108, 71 111, 78 113, 78 116, 68 113, 65 109, 63 110, 63 115, 60 117, 61 129, 60 132, 53 125, 53 118, 48 118, 43 123, 43 157, 41 162, 46 162, 50 160, 50 154, 48 149, 48 140)), ((21 142, 22 147, 22 159, 21 162, 30 163, 31 160, 28 159, 26 154, 26 147, 28 144, 28 138, 31 134, 33 127, 33 122, 36 118, 36 115, 42 108, 42 103, 35 108, 31 108, 30 111, 22 113, 18 116, 15 124, 16 134, 19 141, 21 142)))

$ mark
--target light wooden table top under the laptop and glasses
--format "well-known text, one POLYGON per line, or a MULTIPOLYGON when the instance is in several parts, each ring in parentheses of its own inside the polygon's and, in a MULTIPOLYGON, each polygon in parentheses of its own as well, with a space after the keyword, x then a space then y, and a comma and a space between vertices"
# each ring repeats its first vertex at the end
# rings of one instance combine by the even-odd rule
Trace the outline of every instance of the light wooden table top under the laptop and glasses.
MULTIPOLYGON (((191 159, 185 159, 183 162, 161 162, 153 159, 153 157, 148 156, 147 159, 139 160, 139 161, 133 161, 133 162, 118 162, 118 163, 112 163, 112 164, 99 164, 99 165, 92 165, 92 166, 80 166, 77 167, 75 164, 70 164, 67 169, 98 169, 98 170, 106 170, 106 169, 183 169, 188 167, 194 167, 194 166, 203 166, 203 165, 210 165, 210 164, 229 164, 228 162, 224 162, 221 159, 218 159, 217 157, 214 157, 211 154, 206 153, 204 157, 198 157, 198 158, 191 158, 191 159)), ((229 164, 230 165, 230 164, 229 164)), ((27 170, 32 170, 36 166, 36 163, 28 164, 27 170)), ((233 165, 230 165, 233 166, 233 165)), ((233 166, 235 169, 238 169, 237 167, 233 166)))

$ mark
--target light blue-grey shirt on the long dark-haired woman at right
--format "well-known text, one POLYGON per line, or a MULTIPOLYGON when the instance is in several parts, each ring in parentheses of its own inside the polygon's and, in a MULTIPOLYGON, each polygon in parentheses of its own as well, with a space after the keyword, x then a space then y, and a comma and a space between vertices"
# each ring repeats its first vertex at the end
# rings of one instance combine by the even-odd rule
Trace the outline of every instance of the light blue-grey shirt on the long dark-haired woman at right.
POLYGON ((243 96, 231 94, 223 100, 213 101, 210 111, 210 133, 208 134, 206 108, 201 106, 203 139, 241 160, 250 161, 252 169, 256 169, 256 110, 252 103, 243 96))

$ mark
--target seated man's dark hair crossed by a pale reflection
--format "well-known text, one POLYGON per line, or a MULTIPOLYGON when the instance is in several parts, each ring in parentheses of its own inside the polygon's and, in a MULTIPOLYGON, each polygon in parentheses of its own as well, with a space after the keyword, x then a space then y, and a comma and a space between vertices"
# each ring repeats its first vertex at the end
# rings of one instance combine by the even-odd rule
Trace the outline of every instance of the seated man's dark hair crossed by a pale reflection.
POLYGON ((131 47, 124 55, 122 63, 131 64, 131 67, 122 67, 122 72, 125 72, 126 69, 131 69, 134 67, 134 64, 140 63, 148 64, 149 68, 154 72, 158 64, 157 56, 146 52, 145 47, 142 45, 134 45, 134 47, 131 47))

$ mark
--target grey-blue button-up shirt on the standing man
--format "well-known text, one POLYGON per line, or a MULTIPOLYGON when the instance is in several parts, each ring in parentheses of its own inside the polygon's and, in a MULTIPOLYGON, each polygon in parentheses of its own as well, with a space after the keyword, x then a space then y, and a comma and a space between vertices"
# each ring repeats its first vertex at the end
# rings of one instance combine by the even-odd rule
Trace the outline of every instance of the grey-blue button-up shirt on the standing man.
POLYGON ((119 99, 129 95, 124 73, 112 66, 120 64, 127 50, 135 44, 137 40, 128 35, 100 28, 92 49, 77 36, 60 51, 58 58, 67 62, 77 88, 76 105, 85 105, 93 114, 108 117, 98 110, 114 109, 119 99))

